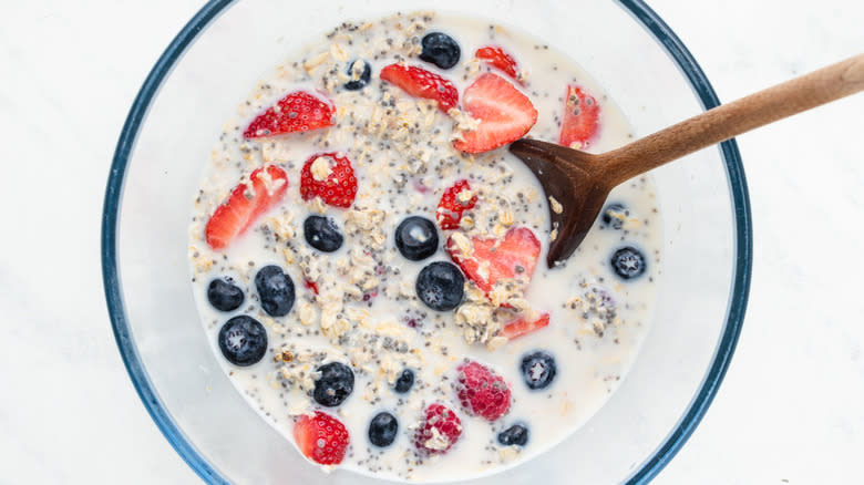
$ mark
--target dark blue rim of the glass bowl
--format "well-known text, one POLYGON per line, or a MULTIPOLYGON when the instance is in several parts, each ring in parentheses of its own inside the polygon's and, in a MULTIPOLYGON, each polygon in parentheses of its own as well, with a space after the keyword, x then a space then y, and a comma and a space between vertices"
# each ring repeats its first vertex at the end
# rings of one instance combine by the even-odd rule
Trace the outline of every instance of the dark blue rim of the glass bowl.
MULTIPOLYGON (((126 122, 117 141, 114 158, 109 173, 105 202, 102 213, 102 279, 105 289, 109 314, 114 330, 123 362, 126 365, 132 383, 135 386, 144 406, 153 421, 160 427, 165 438, 171 443, 184 461, 205 482, 229 484, 230 482, 210 466, 186 438, 167 410, 156 395, 155 389, 147 376, 138 355, 137 348, 131 338, 126 313, 123 305, 120 275, 117 271, 117 216, 120 214, 121 195, 126 173, 126 165, 135 145, 138 130, 147 114, 151 102, 158 93, 162 82, 171 73, 172 68, 186 48, 235 0, 210 0, 179 31, 168 48, 160 56, 147 79, 138 91, 132 104, 126 122)), ((708 82, 699 64, 681 40, 669 29, 658 16, 641 0, 618 0, 639 23, 641 23, 666 49, 669 56, 678 64, 681 73, 690 82, 702 107, 709 110, 720 104, 713 87, 708 82)), ((632 473, 626 484, 646 484, 675 457, 704 416, 717 394, 717 390, 726 375, 729 362, 738 343, 743 324, 750 292, 752 267, 752 226, 750 215, 750 197, 747 180, 741 164, 741 155, 734 140, 720 144, 721 155, 726 162, 729 177, 729 188, 732 195, 736 218, 736 272, 731 297, 729 300, 727 322, 718 343, 713 360, 702 384, 679 420, 677 426, 666 437, 664 443, 632 473)))

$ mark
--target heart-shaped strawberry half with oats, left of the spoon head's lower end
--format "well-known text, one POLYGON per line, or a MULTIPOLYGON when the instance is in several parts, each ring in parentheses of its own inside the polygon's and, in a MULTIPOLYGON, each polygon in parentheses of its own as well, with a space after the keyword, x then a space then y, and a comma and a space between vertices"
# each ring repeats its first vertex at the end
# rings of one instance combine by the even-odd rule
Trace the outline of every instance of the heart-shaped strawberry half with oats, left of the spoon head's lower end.
MULTIPOLYGON (((462 234, 456 234, 465 238, 462 234)), ((514 227, 503 239, 467 239, 470 248, 466 251, 456 244, 454 236, 455 234, 448 239, 450 257, 462 268, 462 272, 486 293, 500 279, 518 279, 523 286, 531 281, 539 257, 541 244, 527 227, 514 227)))

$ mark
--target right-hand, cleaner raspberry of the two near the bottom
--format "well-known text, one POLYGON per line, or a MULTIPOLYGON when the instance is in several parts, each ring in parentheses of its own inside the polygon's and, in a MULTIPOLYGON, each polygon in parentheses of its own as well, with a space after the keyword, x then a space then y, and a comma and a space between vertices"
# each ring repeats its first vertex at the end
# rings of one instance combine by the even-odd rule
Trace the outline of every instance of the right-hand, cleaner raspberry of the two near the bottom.
POLYGON ((487 367, 469 361, 459 367, 456 395, 462 407, 487 421, 495 421, 510 411, 510 386, 487 367))

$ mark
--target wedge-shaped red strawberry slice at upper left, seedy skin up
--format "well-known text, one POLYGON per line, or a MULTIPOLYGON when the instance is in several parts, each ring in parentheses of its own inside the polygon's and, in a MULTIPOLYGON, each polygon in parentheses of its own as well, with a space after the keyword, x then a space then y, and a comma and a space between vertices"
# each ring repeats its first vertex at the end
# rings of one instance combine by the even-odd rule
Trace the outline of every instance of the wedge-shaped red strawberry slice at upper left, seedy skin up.
POLYGON ((259 114, 243 136, 260 138, 291 132, 307 132, 333 125, 336 106, 305 91, 288 93, 285 97, 259 114))

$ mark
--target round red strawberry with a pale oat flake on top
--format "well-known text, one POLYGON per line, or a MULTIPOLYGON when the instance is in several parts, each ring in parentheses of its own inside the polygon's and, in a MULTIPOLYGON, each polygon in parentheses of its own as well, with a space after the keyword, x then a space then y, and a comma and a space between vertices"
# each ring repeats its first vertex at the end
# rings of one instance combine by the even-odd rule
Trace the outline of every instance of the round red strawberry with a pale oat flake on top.
POLYGON ((357 177, 351 161, 341 153, 312 155, 300 171, 304 200, 321 197, 333 207, 351 207, 357 195, 357 177))

